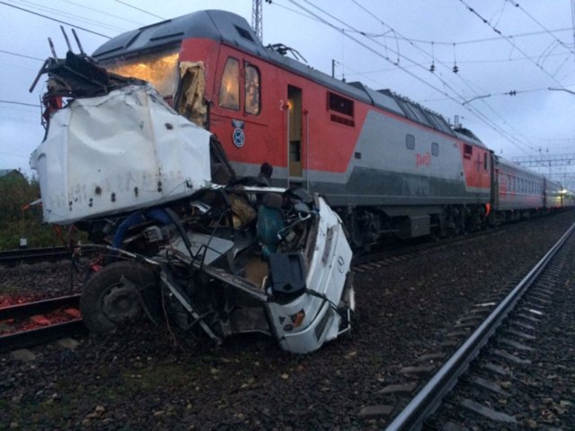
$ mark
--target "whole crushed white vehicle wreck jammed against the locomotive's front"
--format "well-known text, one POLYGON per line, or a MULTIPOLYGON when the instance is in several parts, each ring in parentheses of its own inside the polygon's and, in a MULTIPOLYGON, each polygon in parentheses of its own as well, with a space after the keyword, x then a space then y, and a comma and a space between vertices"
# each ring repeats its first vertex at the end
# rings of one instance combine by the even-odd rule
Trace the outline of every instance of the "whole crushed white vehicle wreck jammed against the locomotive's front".
POLYGON ((256 331, 296 353, 349 331, 352 255, 323 198, 234 180, 207 130, 88 57, 40 73, 49 128, 31 166, 44 218, 106 251, 81 299, 90 330, 167 313, 217 343, 256 331))

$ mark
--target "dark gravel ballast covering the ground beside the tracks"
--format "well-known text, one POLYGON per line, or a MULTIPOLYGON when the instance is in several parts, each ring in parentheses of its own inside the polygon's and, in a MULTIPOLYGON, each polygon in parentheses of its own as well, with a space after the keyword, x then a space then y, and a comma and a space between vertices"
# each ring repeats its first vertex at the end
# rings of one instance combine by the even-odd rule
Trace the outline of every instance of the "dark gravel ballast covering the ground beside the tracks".
MULTIPOLYGON (((400 382, 399 370, 433 352, 473 303, 525 275, 573 222, 566 212, 358 273, 351 334, 311 355, 263 336, 215 347, 143 323, 74 348, 35 347, 31 361, 0 356, 0 429, 380 429, 389 418, 358 414, 381 402, 376 391, 400 382)), ((0 268, 0 303, 81 285, 75 276, 70 287, 62 263, 24 267, 0 268)))

